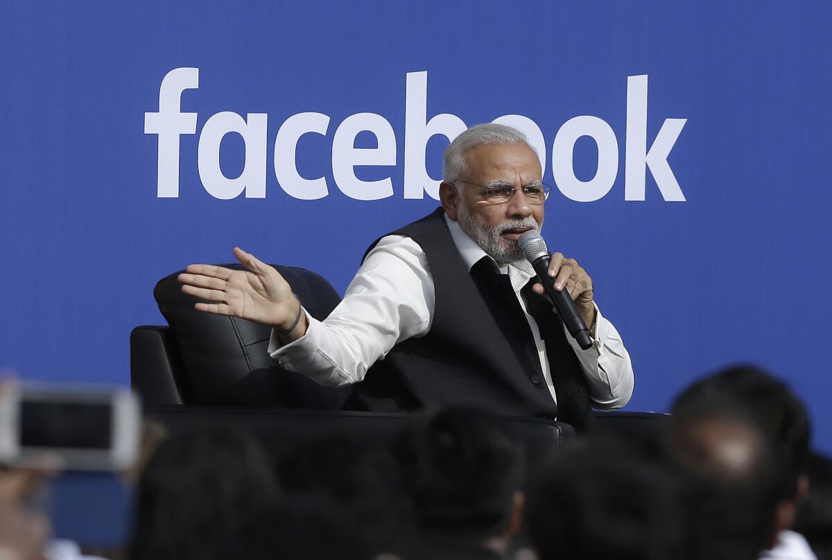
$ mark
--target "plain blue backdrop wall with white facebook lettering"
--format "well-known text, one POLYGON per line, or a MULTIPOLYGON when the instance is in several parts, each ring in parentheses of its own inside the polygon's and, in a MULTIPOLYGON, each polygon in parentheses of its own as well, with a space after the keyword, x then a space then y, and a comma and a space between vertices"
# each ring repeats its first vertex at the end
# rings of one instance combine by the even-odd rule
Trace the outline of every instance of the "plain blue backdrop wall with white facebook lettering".
POLYGON ((442 134, 509 116, 557 183, 548 245, 630 350, 627 408, 752 360, 830 451, 830 13, 3 2, 0 367, 128 383, 156 280, 234 245, 343 291, 370 241, 436 206, 442 134))

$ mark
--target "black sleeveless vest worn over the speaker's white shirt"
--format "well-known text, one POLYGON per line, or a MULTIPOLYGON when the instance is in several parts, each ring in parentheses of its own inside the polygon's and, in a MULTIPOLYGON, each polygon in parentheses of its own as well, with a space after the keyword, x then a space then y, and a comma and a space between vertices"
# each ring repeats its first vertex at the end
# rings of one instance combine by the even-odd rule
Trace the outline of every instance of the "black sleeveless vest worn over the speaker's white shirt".
POLYGON ((427 335, 396 344, 376 362, 352 386, 347 407, 389 412, 470 406, 493 414, 557 417, 578 430, 592 429, 595 418, 582 367, 552 305, 524 291, 530 310, 536 305, 548 310, 536 319, 559 406, 543 378, 532 331, 508 275, 498 274, 491 260, 480 261, 469 273, 443 216, 439 208, 389 234, 410 237, 427 256, 436 291, 433 322, 427 335))

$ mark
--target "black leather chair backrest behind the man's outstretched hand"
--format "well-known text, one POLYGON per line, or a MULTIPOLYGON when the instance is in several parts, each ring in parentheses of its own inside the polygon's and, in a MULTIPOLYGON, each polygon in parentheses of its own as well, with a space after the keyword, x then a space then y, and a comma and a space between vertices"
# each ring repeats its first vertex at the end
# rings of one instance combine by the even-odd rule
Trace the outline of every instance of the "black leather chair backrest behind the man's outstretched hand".
MULTIPOLYGON (((325 319, 338 305, 338 293, 323 277, 310 270, 274 266, 315 319, 325 319)), ((196 311, 196 298, 183 294, 176 280, 180 272, 159 280, 153 295, 171 328, 170 345, 175 347, 176 354, 171 356, 171 362, 182 402, 306 409, 341 407, 345 389, 321 387, 280 368, 270 358, 266 352, 269 327, 196 311)))

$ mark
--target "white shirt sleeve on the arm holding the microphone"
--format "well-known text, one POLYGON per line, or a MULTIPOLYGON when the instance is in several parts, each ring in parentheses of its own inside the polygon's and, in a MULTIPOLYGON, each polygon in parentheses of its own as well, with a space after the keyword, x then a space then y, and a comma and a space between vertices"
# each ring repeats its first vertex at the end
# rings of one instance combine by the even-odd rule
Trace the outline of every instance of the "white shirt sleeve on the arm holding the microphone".
POLYGON ((620 409, 630 401, 634 377, 630 354, 624 348, 615 326, 595 306, 596 320, 592 329, 592 348, 582 350, 566 330, 567 340, 581 361, 589 396, 599 410, 620 409))

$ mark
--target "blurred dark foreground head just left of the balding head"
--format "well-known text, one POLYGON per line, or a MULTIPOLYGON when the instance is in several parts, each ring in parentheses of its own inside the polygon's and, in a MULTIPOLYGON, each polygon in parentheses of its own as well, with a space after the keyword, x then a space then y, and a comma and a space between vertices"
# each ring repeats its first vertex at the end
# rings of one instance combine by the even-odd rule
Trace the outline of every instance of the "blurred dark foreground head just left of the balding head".
POLYGON ((676 492, 670 473, 631 449, 579 441, 540 469, 527 533, 541 560, 683 558, 676 492))

